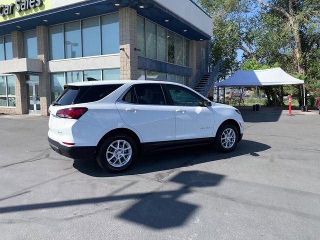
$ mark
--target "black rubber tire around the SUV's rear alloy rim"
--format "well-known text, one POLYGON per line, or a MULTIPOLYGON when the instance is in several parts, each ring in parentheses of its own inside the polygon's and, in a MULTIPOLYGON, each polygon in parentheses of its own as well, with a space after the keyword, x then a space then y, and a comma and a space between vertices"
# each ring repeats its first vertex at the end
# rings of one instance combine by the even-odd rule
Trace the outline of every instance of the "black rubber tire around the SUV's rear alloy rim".
MULTIPOLYGON (((120 145, 120 148, 122 146, 120 145)), ((112 147, 111 147, 112 148, 112 147)), ((113 148, 112 148, 113 149, 113 148)), ((115 150, 115 149, 114 149, 115 150)), ((110 154, 110 153, 109 153, 110 154)), ((115 153, 114 153, 115 154, 115 153)), ((99 147, 97 154, 96 154, 96 161, 98 162, 98 164, 107 171, 110 172, 121 172, 121 171, 125 171, 126 169, 128 169, 130 167, 130 165, 132 164, 132 162, 135 160, 137 155, 137 147, 136 147, 136 142, 134 141, 134 139, 130 136, 127 135, 125 133, 115 133, 112 134, 110 136, 108 136, 104 142, 101 144, 101 146, 99 147), (129 160, 122 166, 113 166, 109 163, 109 161, 106 158, 106 151, 107 149, 110 147, 110 145, 117 141, 126 141, 130 147, 131 147, 131 156, 129 158, 129 160)), ((110 155, 111 157, 112 155, 110 155)), ((117 155, 116 155, 117 156, 117 155)), ((112 158, 113 160, 114 158, 112 158)), ((120 160, 123 161, 124 158, 120 158, 120 160)), ((118 161, 117 161, 118 162, 118 161)), ((123 161, 124 162, 124 161, 123 161)), ((112 162, 111 162, 112 163, 112 162)))

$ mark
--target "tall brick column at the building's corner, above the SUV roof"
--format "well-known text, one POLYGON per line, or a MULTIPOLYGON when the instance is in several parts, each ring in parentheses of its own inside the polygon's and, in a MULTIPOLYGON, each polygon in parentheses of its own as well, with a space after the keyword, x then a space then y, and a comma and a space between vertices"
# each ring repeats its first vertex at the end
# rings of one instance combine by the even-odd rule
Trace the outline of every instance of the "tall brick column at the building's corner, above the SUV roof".
POLYGON ((120 35, 120 74, 121 80, 136 80, 138 78, 136 10, 130 7, 119 9, 120 35))

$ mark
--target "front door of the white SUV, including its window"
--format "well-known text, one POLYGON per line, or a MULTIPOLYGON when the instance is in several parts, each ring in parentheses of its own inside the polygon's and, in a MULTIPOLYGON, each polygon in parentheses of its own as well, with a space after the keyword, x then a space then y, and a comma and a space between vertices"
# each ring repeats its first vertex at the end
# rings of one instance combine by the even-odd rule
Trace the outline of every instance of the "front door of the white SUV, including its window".
POLYGON ((178 85, 163 84, 175 113, 175 140, 212 137, 214 116, 210 106, 203 106, 203 98, 178 85))

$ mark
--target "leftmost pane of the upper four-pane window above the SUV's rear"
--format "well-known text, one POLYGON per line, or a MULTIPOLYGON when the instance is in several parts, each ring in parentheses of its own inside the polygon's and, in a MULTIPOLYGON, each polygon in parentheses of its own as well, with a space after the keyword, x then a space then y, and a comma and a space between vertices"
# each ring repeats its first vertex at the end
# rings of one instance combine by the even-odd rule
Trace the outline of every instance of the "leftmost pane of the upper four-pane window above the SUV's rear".
POLYGON ((64 58, 63 25, 48 27, 49 34, 49 58, 57 60, 64 58))

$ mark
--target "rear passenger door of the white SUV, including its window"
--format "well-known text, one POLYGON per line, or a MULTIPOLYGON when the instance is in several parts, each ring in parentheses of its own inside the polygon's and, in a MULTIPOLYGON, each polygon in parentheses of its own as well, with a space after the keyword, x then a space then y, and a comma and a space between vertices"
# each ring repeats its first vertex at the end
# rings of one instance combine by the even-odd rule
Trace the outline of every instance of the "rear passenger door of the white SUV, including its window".
POLYGON ((135 84, 116 106, 125 124, 139 132, 143 142, 169 141, 173 146, 175 115, 166 105, 160 84, 135 84))

